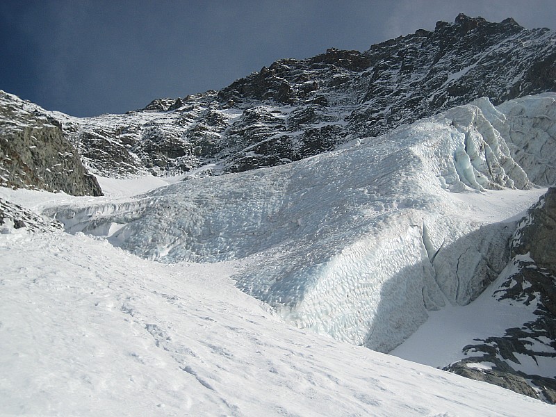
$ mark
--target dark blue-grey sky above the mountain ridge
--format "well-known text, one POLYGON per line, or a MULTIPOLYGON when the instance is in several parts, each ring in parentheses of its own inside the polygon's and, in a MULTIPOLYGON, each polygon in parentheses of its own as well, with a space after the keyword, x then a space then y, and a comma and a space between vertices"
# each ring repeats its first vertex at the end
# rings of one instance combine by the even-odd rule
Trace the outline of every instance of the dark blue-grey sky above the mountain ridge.
POLYGON ((70 115, 124 113, 458 13, 556 29, 556 0, 1 0, 0 89, 70 115))

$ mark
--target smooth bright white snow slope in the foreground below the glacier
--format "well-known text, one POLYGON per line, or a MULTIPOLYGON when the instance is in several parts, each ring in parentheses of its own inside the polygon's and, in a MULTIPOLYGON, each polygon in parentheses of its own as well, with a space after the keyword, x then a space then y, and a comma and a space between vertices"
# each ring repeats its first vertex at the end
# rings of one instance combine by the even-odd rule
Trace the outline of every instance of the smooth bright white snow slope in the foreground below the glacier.
POLYGON ((289 327, 233 286, 234 264, 165 265, 83 234, 11 231, 0 234, 3 416, 554 414, 289 327))

